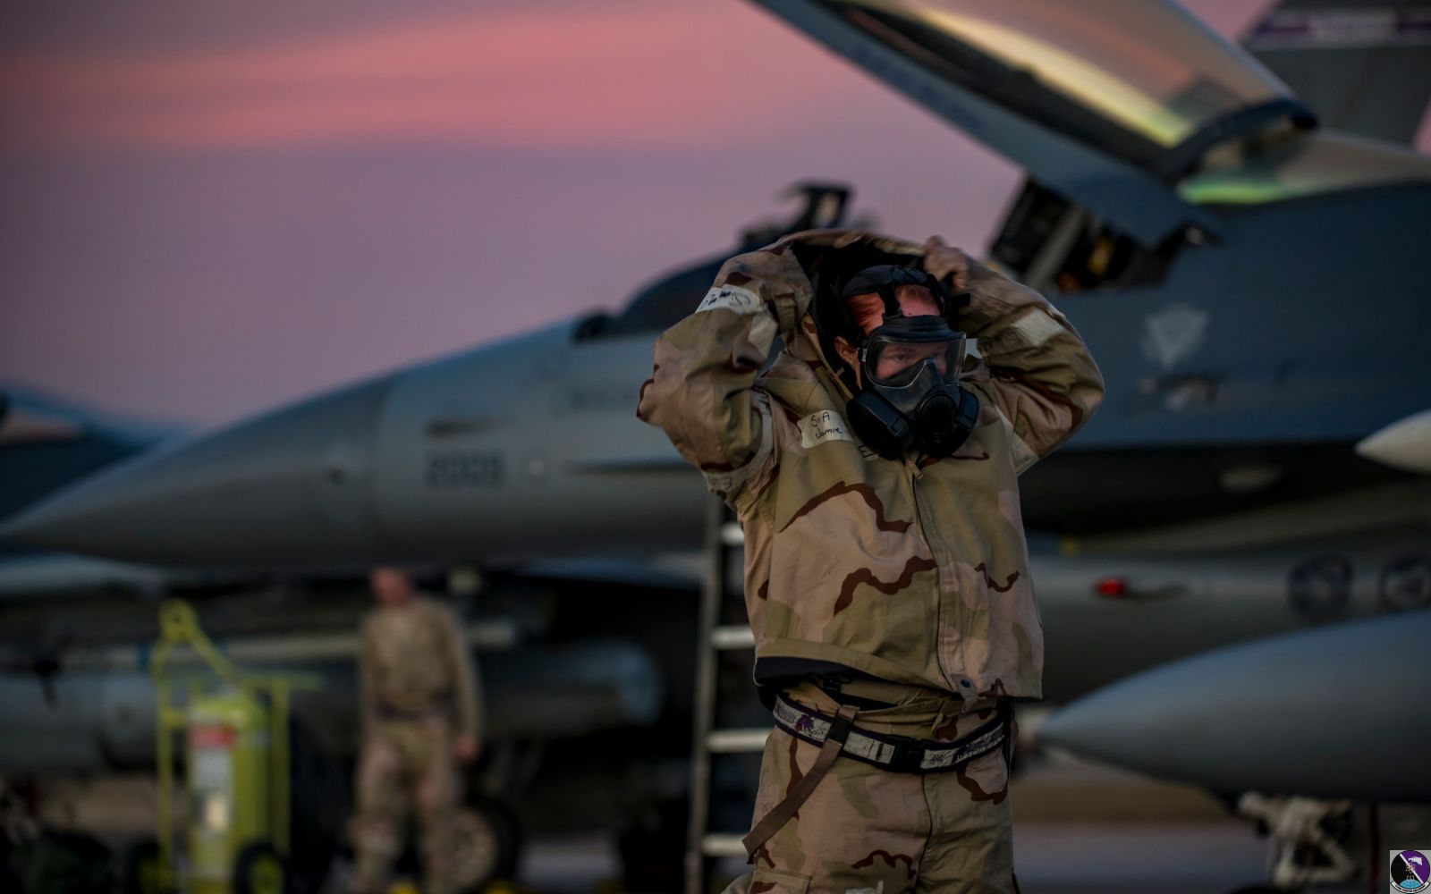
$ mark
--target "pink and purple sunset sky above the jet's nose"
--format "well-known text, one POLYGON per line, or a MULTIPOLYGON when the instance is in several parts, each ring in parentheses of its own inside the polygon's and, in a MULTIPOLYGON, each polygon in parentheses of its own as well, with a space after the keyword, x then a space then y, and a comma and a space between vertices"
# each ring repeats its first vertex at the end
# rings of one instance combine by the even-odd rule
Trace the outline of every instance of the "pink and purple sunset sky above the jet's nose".
POLYGON ((6 4, 0 159, 0 385, 202 425, 620 308, 798 179, 976 252, 1017 183, 740 0, 6 4))

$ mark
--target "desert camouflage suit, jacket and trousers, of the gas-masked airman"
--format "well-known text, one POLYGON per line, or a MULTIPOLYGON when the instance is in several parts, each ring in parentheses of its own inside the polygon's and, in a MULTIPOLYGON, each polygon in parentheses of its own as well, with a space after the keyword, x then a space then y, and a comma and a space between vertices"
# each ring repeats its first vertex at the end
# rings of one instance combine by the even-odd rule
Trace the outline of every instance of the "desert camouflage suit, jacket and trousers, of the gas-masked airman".
MULTIPOLYGON (((811 230, 721 267, 697 312, 657 342, 637 415, 740 516, 757 684, 829 715, 840 704, 823 684, 844 681, 841 692, 864 698, 857 730, 953 741, 1000 699, 1042 694, 1017 476, 1102 395, 1083 342, 1032 289, 937 239, 811 230), (814 270, 856 253, 917 260, 970 293, 959 322, 980 358, 959 380, 980 412, 950 456, 883 459, 846 422, 853 390, 809 310, 814 270), (784 350, 767 368, 777 338, 784 350)), ((817 751, 771 735, 757 820, 817 751)), ((837 760, 731 890, 1009 891, 1010 830, 999 751, 927 775, 837 760)))

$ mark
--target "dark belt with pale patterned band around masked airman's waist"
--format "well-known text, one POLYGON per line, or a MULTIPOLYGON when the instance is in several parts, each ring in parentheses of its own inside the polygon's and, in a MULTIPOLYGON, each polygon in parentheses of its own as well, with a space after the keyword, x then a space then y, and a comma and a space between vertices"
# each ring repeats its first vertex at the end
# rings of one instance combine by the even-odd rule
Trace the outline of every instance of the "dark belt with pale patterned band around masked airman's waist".
MULTIPOLYGON (((952 742, 886 735, 850 727, 840 754, 893 772, 947 772, 1005 745, 1012 717, 1007 699, 999 702, 997 712, 995 719, 952 742)), ((823 745, 837 721, 784 695, 776 697, 774 715, 777 727, 811 745, 823 745)))

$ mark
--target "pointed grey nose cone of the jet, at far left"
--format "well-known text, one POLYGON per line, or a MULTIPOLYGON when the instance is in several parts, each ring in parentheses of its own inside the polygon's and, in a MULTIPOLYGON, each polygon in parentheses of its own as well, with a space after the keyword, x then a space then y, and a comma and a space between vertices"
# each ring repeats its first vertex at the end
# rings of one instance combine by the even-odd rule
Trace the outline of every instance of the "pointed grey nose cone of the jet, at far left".
POLYGON ((163 565, 345 561, 373 548, 384 378, 140 456, 21 512, 0 538, 163 565))

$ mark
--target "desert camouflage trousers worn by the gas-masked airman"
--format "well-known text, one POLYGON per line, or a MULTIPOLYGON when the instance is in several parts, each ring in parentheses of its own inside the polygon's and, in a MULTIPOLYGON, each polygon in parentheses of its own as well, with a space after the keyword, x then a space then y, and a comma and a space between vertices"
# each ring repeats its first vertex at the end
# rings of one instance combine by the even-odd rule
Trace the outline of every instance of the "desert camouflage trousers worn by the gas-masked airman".
MULTIPOLYGON (((786 695, 827 715, 840 708, 810 682, 786 695)), ((996 712, 992 701, 962 711, 960 699, 930 689, 906 689, 897 701, 861 709, 854 725, 952 741, 996 712)), ((757 822, 810 770, 819 751, 780 728, 771 734, 760 765, 757 822)), ((754 873, 737 878, 726 894, 1016 893, 1003 752, 926 775, 841 757, 794 818, 756 851, 753 864, 754 873)))

